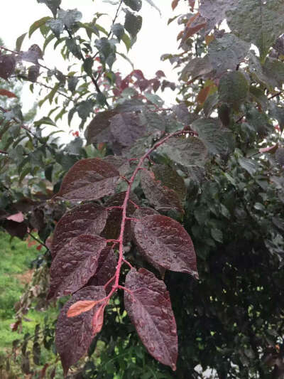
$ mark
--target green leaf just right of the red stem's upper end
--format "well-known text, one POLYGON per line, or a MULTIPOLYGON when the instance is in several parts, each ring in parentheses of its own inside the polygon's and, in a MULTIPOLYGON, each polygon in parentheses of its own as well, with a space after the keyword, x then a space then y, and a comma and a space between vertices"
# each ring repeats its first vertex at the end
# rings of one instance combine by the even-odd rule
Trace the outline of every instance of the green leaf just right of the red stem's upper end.
POLYGON ((234 134, 222 127, 217 119, 197 119, 192 123, 192 129, 210 153, 228 155, 234 151, 234 134))

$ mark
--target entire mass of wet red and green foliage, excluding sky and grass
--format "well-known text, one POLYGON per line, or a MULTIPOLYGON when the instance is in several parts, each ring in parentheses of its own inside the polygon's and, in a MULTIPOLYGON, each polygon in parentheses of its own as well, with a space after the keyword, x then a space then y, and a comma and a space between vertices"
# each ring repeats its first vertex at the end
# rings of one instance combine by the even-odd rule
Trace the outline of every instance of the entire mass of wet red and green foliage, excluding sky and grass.
POLYGON ((37 230, 46 250, 40 292, 23 294, 13 329, 33 301, 69 297, 56 330, 23 338, 23 373, 61 370, 57 358, 42 365, 42 338, 73 378, 199 378, 198 364, 219 378, 281 378, 282 1, 189 0, 180 50, 163 55, 178 85, 160 70, 150 80, 113 70, 138 37, 140 0, 114 1, 109 31, 100 14, 82 22, 60 0, 38 2, 53 15, 28 32, 40 30, 42 48, 21 51, 23 35, 0 55, 1 78, 48 89, 39 105, 52 106, 31 125, 20 106, 0 107, 1 226, 37 230), (39 62, 52 41, 73 71, 39 62), (156 93, 165 87, 178 90, 170 108, 156 93), (75 114, 69 144, 43 134, 75 114))

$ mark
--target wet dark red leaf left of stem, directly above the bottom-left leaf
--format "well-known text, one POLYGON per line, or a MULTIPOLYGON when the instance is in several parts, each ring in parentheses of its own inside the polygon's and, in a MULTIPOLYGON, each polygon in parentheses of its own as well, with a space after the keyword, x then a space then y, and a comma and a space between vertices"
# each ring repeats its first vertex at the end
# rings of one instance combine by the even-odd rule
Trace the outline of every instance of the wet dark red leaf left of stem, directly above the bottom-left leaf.
POLYGON ((68 240, 51 264, 48 299, 73 294, 84 287, 97 271, 99 255, 106 244, 97 235, 80 235, 68 240))

